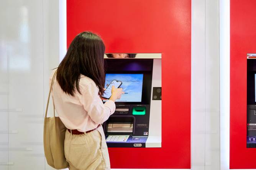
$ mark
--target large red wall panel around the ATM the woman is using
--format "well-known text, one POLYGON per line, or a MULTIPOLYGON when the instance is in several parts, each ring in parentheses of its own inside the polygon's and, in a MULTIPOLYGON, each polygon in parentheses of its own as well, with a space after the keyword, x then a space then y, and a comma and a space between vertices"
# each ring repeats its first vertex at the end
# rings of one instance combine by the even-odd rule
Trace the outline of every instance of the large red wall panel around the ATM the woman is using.
POLYGON ((162 148, 109 148, 112 168, 190 168, 190 19, 190 0, 67 0, 68 45, 92 31, 107 53, 162 53, 162 148))

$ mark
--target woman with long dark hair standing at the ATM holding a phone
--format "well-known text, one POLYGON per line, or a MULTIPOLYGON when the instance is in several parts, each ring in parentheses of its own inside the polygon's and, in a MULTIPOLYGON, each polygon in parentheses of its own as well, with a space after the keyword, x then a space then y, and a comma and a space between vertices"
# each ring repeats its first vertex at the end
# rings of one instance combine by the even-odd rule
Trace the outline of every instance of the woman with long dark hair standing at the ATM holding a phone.
POLYGON ((67 127, 64 152, 70 170, 110 169, 101 124, 113 114, 115 100, 124 92, 113 87, 112 96, 103 104, 100 96, 105 82, 104 52, 99 36, 82 32, 71 42, 57 68, 52 96, 55 109, 67 127))

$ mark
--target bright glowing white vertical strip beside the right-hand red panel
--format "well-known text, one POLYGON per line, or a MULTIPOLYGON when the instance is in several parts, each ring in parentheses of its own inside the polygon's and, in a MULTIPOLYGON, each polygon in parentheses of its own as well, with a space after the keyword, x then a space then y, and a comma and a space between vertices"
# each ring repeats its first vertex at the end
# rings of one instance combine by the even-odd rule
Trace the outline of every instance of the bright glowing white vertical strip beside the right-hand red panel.
POLYGON ((220 0, 220 169, 229 170, 230 0, 220 0))

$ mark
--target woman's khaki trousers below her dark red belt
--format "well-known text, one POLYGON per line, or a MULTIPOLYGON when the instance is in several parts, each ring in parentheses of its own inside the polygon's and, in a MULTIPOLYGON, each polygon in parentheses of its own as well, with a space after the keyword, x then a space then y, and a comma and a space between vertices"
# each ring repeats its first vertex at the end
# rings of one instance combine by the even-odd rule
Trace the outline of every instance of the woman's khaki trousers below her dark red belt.
POLYGON ((102 126, 87 134, 72 135, 66 131, 64 152, 70 170, 110 170, 102 126))

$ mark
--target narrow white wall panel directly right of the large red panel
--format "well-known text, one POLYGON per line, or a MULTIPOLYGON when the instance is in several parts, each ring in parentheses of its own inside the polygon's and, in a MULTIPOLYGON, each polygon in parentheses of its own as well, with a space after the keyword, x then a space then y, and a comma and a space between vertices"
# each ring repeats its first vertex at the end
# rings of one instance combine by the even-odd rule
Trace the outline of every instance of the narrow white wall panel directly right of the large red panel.
POLYGON ((191 17, 191 169, 205 170, 205 0, 191 17))

